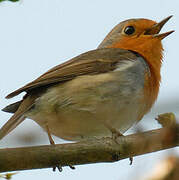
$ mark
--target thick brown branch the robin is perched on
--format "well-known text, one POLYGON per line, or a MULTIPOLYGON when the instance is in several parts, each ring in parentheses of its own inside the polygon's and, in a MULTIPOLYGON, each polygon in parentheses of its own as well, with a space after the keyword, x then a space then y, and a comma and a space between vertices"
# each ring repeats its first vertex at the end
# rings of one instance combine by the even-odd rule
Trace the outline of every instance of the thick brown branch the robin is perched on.
POLYGON ((115 162, 179 145, 179 125, 77 143, 0 149, 0 172, 115 162))

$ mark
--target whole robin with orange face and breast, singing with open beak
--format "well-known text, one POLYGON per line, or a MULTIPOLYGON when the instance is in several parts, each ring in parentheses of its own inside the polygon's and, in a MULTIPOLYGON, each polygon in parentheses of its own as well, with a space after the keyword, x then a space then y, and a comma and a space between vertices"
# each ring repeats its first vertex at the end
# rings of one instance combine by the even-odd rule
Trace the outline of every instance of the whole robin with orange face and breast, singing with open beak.
POLYGON ((159 34, 169 16, 157 23, 148 19, 121 22, 95 50, 55 66, 27 85, 21 101, 3 109, 13 116, 0 129, 0 139, 25 118, 51 134, 82 140, 124 133, 151 109, 160 85, 159 34))

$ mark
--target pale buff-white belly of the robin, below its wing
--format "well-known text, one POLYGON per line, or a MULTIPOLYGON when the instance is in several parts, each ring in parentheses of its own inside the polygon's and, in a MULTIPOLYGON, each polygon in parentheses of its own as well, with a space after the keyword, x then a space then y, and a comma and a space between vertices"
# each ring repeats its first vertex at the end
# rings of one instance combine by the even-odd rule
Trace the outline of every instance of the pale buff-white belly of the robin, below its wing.
POLYGON ((105 124, 123 133, 142 118, 143 85, 119 77, 82 76, 51 87, 26 116, 67 140, 111 136, 105 124))

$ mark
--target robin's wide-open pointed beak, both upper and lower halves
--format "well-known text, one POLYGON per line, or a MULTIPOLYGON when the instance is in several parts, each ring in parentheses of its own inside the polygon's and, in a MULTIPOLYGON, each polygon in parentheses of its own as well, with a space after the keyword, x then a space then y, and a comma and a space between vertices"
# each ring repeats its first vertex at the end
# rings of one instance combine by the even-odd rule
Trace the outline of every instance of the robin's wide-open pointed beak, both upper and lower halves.
POLYGON ((169 34, 173 33, 174 31, 169 31, 166 33, 162 33, 162 34, 158 34, 162 27, 168 22, 168 20, 171 18, 172 16, 168 16, 167 18, 163 19, 162 21, 160 21, 157 24, 154 24, 150 29, 148 29, 145 34, 150 34, 153 35, 153 37, 159 38, 159 39, 164 39, 165 37, 167 37, 169 34))

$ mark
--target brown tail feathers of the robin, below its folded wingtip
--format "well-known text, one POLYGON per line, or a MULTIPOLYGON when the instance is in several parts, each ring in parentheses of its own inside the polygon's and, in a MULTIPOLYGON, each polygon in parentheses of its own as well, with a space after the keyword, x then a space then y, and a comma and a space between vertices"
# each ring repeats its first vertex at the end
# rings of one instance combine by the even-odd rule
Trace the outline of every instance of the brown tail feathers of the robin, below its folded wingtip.
POLYGON ((14 128, 16 128, 22 121, 24 121, 24 114, 34 105, 36 97, 28 96, 26 99, 17 103, 7 106, 4 111, 14 112, 13 116, 8 122, 0 129, 0 139, 9 134, 14 128))

